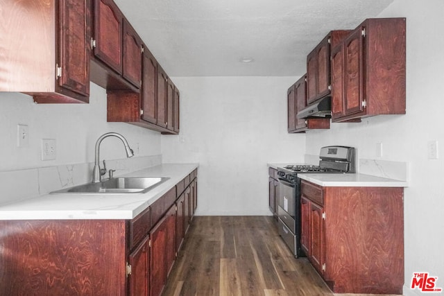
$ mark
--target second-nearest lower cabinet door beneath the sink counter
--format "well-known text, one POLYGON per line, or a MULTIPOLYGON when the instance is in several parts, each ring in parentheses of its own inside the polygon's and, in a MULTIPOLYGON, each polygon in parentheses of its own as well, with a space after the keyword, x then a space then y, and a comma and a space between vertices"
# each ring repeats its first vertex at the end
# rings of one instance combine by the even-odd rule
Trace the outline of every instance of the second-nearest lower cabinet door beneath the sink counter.
POLYGON ((162 293, 167 282, 167 217, 164 216, 150 232, 150 295, 158 296, 162 293))

